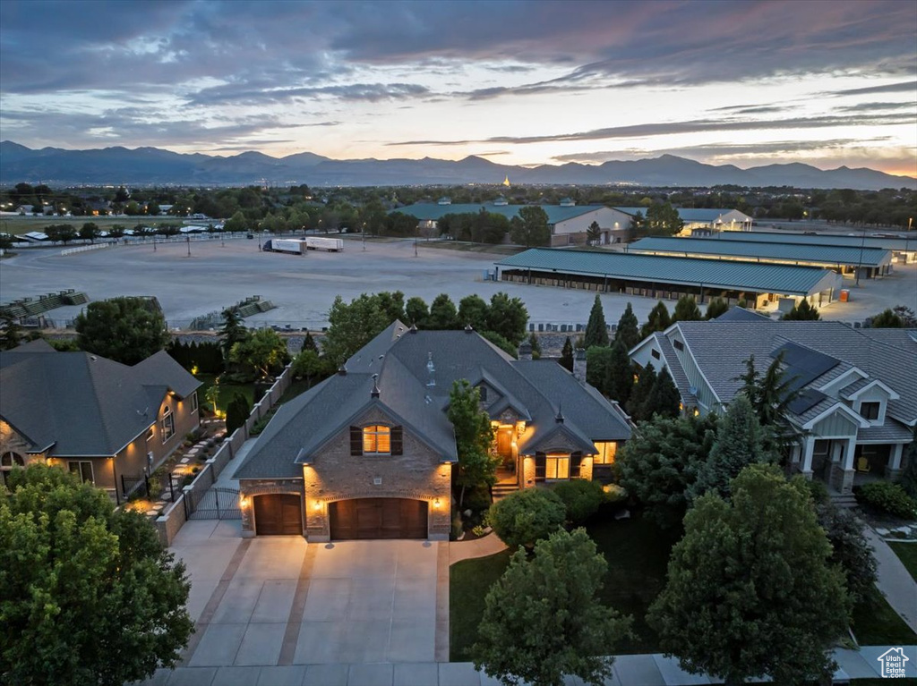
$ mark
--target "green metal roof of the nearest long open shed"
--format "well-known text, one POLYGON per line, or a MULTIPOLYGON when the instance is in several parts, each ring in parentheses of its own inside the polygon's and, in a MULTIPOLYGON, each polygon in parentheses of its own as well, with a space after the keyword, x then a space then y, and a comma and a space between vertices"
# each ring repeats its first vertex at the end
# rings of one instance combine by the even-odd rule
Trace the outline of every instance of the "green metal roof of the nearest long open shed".
POLYGON ((590 277, 704 285, 784 295, 812 295, 837 288, 840 276, 818 267, 764 265, 691 257, 625 255, 586 250, 531 248, 496 263, 504 269, 556 271, 590 277))

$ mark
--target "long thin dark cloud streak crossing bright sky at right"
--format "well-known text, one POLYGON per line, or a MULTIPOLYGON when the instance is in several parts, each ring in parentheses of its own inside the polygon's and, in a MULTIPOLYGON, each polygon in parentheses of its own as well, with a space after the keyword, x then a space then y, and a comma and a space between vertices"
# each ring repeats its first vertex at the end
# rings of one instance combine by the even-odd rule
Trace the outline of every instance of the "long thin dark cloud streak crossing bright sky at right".
POLYGON ((389 143, 389 146, 460 146, 469 143, 503 143, 527 144, 555 141, 606 140, 613 138, 643 138, 651 136, 668 136, 671 134, 694 134, 715 131, 756 131, 791 128, 829 128, 831 126, 849 125, 894 125, 911 124, 911 114, 862 114, 859 116, 814 116, 773 120, 716 120, 695 119, 686 122, 666 122, 659 124, 635 124, 627 126, 610 126, 608 128, 581 131, 572 134, 552 134, 547 136, 492 136, 480 140, 410 140, 389 143))

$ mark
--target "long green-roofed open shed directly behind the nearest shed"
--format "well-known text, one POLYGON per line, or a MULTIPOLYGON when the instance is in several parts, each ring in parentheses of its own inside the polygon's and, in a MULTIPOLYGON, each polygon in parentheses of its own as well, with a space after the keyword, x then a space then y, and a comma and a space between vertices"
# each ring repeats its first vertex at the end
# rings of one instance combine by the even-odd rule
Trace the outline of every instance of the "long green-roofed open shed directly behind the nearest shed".
POLYGON ((881 277, 891 271, 891 252, 881 248, 754 243, 743 241, 738 235, 734 241, 653 236, 628 245, 627 252, 639 255, 700 257, 702 259, 826 267, 834 269, 838 274, 849 275, 855 275, 856 269, 859 268, 862 278, 881 277))

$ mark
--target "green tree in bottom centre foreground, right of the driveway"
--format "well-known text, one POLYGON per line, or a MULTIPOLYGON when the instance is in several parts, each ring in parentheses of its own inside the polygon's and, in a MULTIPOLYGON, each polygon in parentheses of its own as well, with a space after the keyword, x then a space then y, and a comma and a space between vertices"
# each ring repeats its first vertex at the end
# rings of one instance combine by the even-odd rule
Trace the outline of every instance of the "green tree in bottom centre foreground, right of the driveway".
POLYGON ((507 686, 562 686, 564 675, 601 686, 613 664, 604 656, 631 624, 599 601, 607 570, 581 528, 538 541, 532 560, 517 550, 487 594, 475 667, 507 686))

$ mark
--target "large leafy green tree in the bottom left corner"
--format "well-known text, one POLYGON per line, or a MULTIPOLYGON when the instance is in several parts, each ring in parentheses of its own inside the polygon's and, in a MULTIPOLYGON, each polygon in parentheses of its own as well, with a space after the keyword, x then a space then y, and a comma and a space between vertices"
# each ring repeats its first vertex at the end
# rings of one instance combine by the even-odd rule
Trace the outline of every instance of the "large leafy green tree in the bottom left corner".
POLYGON ((193 631, 191 585, 149 521, 57 467, 14 470, 9 485, 0 488, 4 682, 121 686, 173 667, 193 631))

